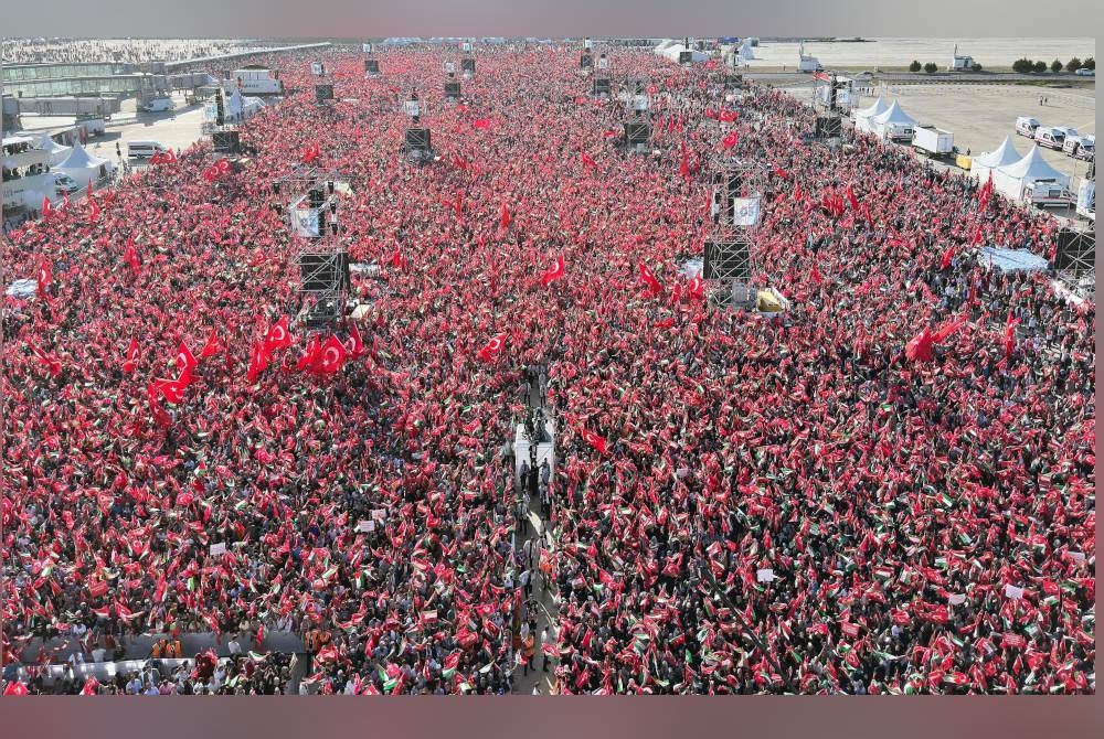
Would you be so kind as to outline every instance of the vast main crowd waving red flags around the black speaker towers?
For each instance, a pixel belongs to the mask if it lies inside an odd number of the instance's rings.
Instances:
[[[448,104],[456,56],[330,53],[322,105],[315,56],[262,58],[300,92],[242,127],[242,171],[200,143],[4,242],[40,280],[3,326],[6,664],[75,630],[291,631],[323,694],[1095,692],[1095,306],[975,259],[1051,257],[1052,218],[809,142],[807,106],[712,64],[611,53],[648,82],[643,156],[577,49],[480,49]],[[680,274],[722,157],[758,168],[784,315]],[[336,370],[282,323],[304,159],[380,267]],[[502,449],[533,365],[546,504]]]

